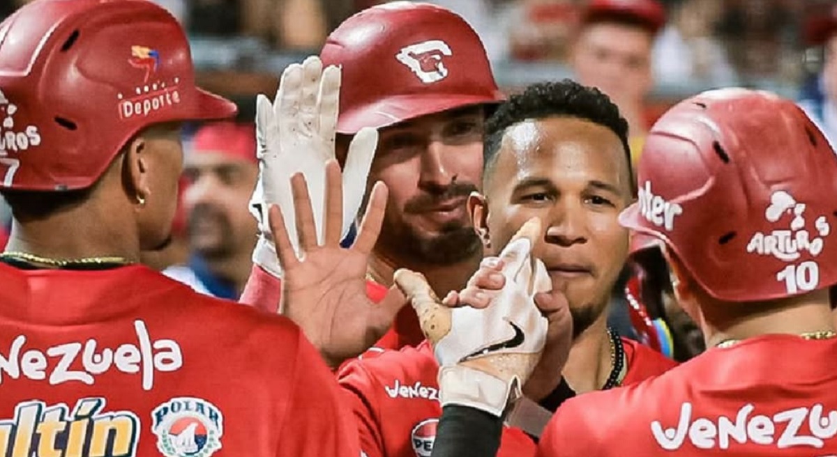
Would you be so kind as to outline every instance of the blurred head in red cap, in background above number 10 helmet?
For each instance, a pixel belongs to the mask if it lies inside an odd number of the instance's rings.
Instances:
[[[591,0],[573,44],[578,82],[608,94],[628,119],[634,163],[655,120],[645,102],[654,87],[651,48],[664,24],[665,11],[656,0]]]

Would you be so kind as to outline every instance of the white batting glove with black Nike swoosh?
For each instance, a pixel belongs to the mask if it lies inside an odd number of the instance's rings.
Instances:
[[[547,338],[547,318],[534,302],[537,292],[552,288],[546,267],[531,256],[540,234],[540,221],[529,221],[502,251],[506,285],[483,309],[445,307],[424,276],[395,273],[441,365],[442,406],[460,404],[500,417],[521,396]]]

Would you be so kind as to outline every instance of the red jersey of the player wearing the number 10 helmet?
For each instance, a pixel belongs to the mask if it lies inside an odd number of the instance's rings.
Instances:
[[[563,404],[542,457],[837,454],[837,339],[766,335]]]

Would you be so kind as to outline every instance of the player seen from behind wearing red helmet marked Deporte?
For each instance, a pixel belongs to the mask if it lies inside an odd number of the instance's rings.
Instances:
[[[0,24],[0,454],[357,457],[333,375],[285,317],[141,266],[180,123],[224,119],[145,0],[35,0]],[[222,450],[223,449],[223,450]]]

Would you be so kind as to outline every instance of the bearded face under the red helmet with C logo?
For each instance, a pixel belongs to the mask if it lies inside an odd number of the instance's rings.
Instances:
[[[450,265],[480,250],[465,201],[482,177],[484,122],[477,106],[381,129],[368,179],[389,189],[377,250],[411,265]]]

